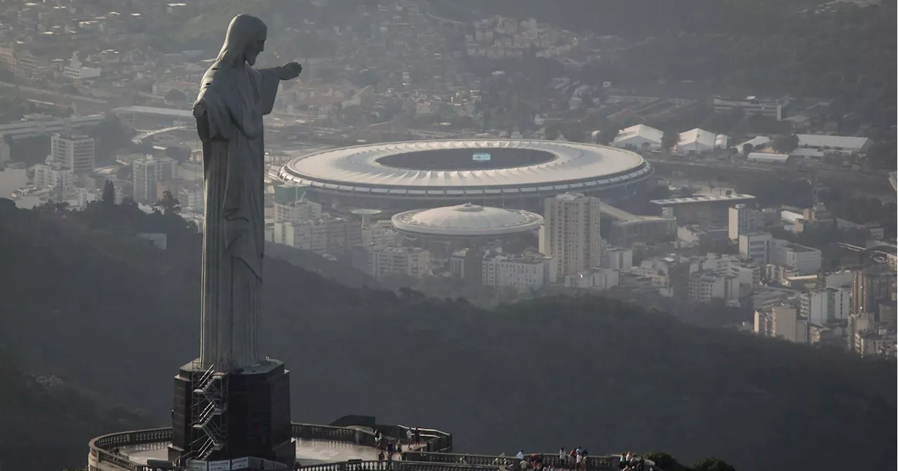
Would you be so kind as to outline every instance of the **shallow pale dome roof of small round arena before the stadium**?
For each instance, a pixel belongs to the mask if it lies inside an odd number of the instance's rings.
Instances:
[[[506,236],[542,226],[538,214],[466,203],[435,209],[414,209],[392,217],[397,229],[427,236]]]

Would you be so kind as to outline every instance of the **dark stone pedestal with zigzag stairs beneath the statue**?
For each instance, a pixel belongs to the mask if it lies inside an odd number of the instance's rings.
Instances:
[[[239,372],[203,369],[198,360],[174,378],[169,459],[213,462],[260,458],[293,469],[290,372],[265,360]],[[236,469],[236,468],[234,468]]]

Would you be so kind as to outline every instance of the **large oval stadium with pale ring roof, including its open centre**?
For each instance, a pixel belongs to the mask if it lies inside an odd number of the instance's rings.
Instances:
[[[463,139],[340,147],[301,156],[279,177],[321,203],[419,209],[462,203],[539,208],[577,191],[616,201],[654,185],[634,152],[577,142]]]

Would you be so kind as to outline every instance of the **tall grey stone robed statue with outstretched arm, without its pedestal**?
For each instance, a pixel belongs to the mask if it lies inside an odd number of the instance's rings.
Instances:
[[[253,68],[268,27],[240,14],[203,76],[193,116],[203,142],[206,221],[203,226],[203,368],[236,372],[260,363],[258,316],[265,241],[265,149],[262,116],[275,104],[281,80],[303,67]]]

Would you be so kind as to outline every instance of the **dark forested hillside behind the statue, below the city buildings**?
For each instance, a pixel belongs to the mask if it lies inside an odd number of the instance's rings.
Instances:
[[[199,246],[178,219],[0,208],[0,342],[31,373],[166,424],[172,375],[198,351]],[[147,229],[171,231],[171,249],[133,236]],[[452,431],[472,453],[663,449],[740,471],[893,459],[892,364],[603,298],[487,311],[265,263],[264,350],[292,371],[296,421],[371,413]]]

